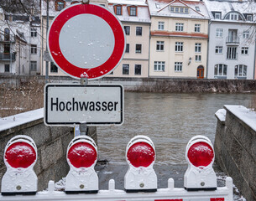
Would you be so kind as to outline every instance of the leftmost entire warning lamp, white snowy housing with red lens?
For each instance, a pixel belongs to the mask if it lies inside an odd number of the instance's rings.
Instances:
[[[31,137],[18,135],[5,147],[3,161],[7,172],[3,175],[1,193],[35,194],[38,178],[34,173],[37,148]]]

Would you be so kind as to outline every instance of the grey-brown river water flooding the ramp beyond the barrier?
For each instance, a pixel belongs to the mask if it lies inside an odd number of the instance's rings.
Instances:
[[[136,135],[154,142],[156,165],[185,163],[191,137],[205,135],[214,142],[217,119],[224,105],[250,106],[256,94],[124,93],[122,126],[97,127],[99,160],[125,164],[125,149]]]

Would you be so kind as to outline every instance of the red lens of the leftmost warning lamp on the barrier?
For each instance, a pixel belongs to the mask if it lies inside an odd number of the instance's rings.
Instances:
[[[8,147],[4,157],[13,168],[28,168],[36,160],[36,152],[26,142],[15,142]]]

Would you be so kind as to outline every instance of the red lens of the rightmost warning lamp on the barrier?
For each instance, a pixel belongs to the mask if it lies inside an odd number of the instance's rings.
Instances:
[[[196,142],[187,152],[190,162],[196,167],[208,166],[214,157],[212,147],[206,142]]]

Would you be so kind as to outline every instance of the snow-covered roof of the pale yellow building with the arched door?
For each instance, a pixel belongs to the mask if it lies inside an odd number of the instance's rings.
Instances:
[[[172,18],[201,18],[208,19],[206,5],[202,1],[185,0],[148,0],[149,12],[152,16]],[[170,8],[189,8],[188,13],[171,12]]]

